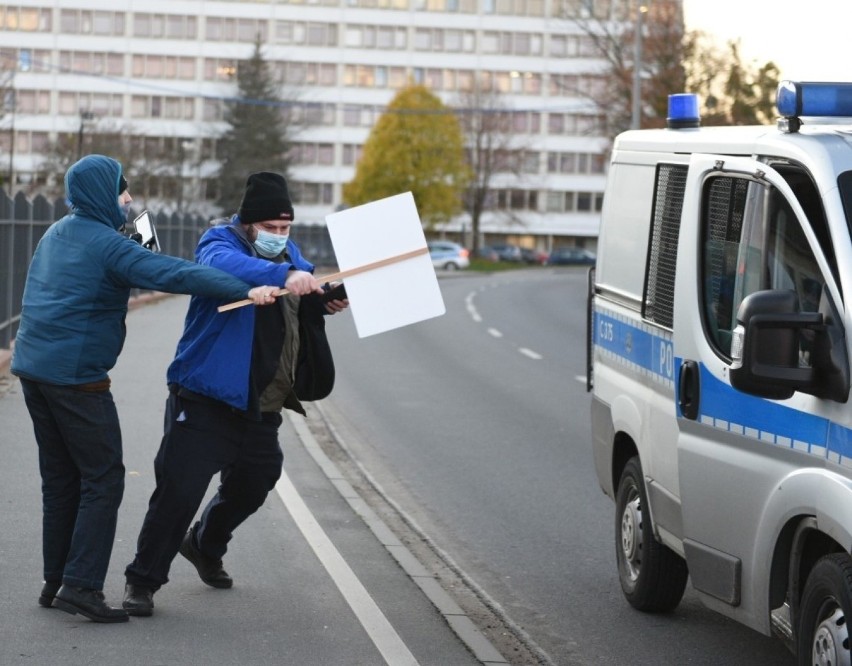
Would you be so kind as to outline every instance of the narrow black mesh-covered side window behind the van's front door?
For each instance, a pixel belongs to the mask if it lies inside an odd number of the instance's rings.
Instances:
[[[686,165],[660,164],[654,190],[654,218],[648,246],[644,316],[661,326],[672,327],[677,239],[686,189]]]

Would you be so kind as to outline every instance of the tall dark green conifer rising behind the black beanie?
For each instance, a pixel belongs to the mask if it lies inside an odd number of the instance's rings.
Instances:
[[[221,167],[216,203],[225,213],[236,211],[249,174],[274,171],[290,180],[289,114],[279,95],[280,86],[263,58],[259,39],[251,58],[237,67],[237,89],[237,97],[226,102],[229,127],[217,145]]]

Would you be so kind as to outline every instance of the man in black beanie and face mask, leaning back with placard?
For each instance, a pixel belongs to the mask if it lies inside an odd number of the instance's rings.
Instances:
[[[220,301],[190,301],[167,372],[166,428],[154,460],[157,487],[136,556],[125,570],[123,605],[130,615],[153,613],[154,593],[168,581],[178,552],[207,585],[233,585],[222,557],[233,531],[260,508],[281,476],[281,410],[304,414],[301,400],[316,397],[295,388],[300,317],[308,309],[334,314],[348,301],[320,298],[324,291],[313,264],[289,239],[293,217],[284,177],[253,173],[237,213],[208,229],[196,248],[200,264],[290,293],[277,299],[278,307],[227,313],[217,311]],[[190,528],[217,473],[218,492]]]

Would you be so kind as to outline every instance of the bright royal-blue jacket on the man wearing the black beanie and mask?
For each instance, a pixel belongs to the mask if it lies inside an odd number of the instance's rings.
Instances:
[[[228,225],[207,230],[195,250],[199,264],[221,268],[250,285],[284,286],[291,269],[313,273],[298,246],[287,242],[290,263],[257,257],[234,216]],[[219,301],[193,297],[186,313],[183,336],[167,373],[169,383],[221,400],[245,410],[249,399],[254,308],[220,313]]]

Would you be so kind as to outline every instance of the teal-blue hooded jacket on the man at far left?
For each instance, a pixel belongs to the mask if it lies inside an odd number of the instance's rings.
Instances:
[[[121,165],[89,155],[65,175],[71,212],[39,241],[24,287],[12,372],[48,384],[106,379],[124,345],[133,287],[204,294],[222,302],[249,285],[191,261],[154,254],[118,230]]]

